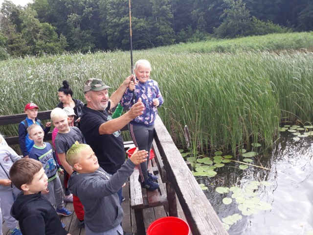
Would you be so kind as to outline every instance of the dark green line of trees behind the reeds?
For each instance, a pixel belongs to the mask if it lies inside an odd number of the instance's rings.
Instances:
[[[129,50],[128,0],[34,0],[0,8],[0,58]],[[133,48],[313,30],[313,0],[132,0]]]

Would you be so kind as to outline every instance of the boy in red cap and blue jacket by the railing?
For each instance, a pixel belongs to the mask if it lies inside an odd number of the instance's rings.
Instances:
[[[41,121],[37,118],[39,107],[34,103],[28,103],[25,106],[25,114],[27,115],[25,120],[22,120],[19,125],[19,141],[20,148],[24,158],[28,158],[29,152],[34,146],[34,141],[28,138],[27,128],[28,126],[36,123],[40,125],[45,135],[50,131],[51,122],[46,122],[45,127]]]

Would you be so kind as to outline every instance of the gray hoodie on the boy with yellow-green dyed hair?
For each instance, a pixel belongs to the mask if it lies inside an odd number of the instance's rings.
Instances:
[[[127,160],[112,176],[101,167],[93,173],[74,171],[70,176],[68,188],[82,202],[85,223],[93,232],[105,232],[122,222],[123,209],[117,191],[131,176],[134,166]]]

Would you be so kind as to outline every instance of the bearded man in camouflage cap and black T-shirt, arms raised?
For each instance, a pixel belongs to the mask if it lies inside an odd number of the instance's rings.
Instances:
[[[109,110],[118,105],[127,88],[132,84],[133,75],[127,77],[122,85],[110,96],[110,88],[102,80],[90,78],[84,85],[87,105],[83,108],[80,120],[81,131],[86,142],[98,158],[100,166],[114,174],[125,162],[124,143],[120,129],[145,109],[141,99],[119,118],[112,119]],[[122,194],[120,191],[120,200]]]

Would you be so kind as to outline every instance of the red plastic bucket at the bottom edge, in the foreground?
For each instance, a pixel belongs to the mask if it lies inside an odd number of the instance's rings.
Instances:
[[[150,224],[147,235],[190,235],[190,228],[184,220],[168,216]]]

